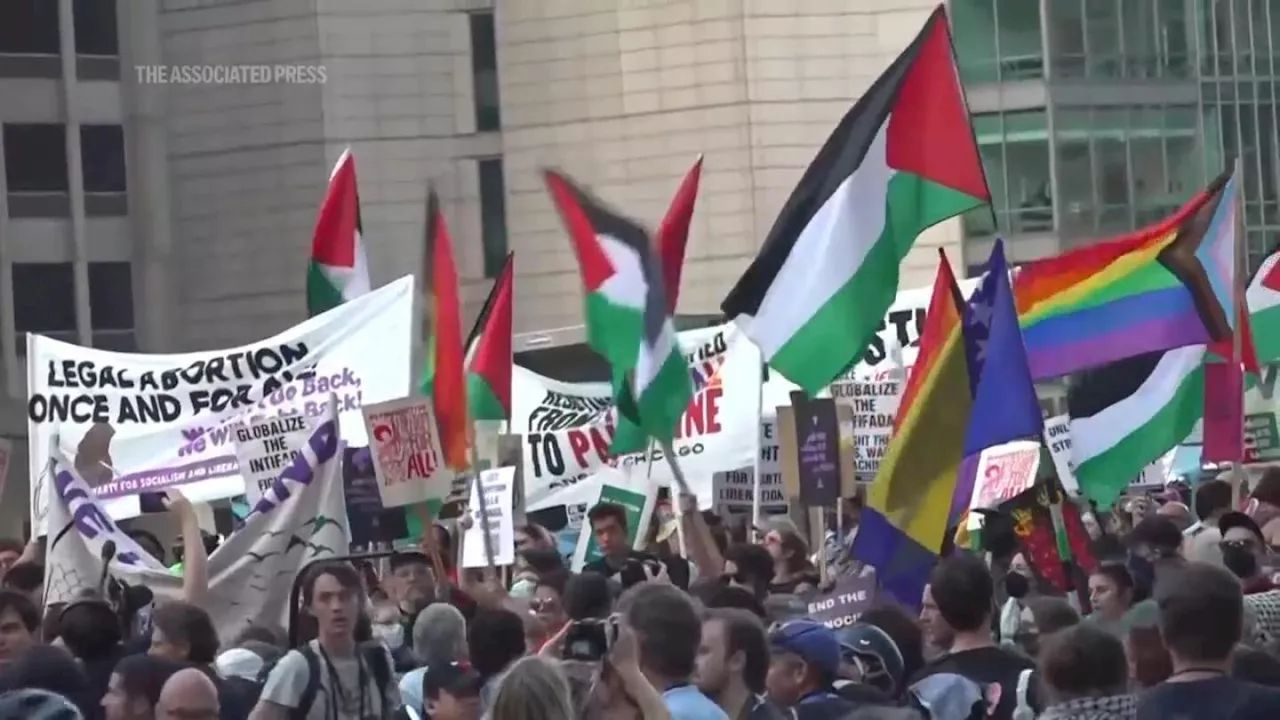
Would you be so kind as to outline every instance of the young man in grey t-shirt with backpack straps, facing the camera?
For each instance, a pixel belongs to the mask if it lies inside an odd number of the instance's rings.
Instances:
[[[302,578],[302,610],[316,638],[289,651],[271,669],[253,720],[364,720],[399,707],[392,659],[381,643],[357,642],[364,615],[360,571],[321,561]]]

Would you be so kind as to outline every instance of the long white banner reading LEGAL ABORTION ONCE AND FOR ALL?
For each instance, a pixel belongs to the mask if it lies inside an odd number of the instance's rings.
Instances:
[[[56,442],[116,519],[138,493],[178,486],[195,502],[244,492],[234,428],[317,418],[335,393],[344,441],[367,443],[360,407],[411,387],[413,278],[406,277],[275,337],[229,350],[109,352],[27,336],[32,527],[44,532]]]

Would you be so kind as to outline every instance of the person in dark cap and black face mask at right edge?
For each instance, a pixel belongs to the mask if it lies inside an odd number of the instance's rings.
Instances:
[[[1270,548],[1262,528],[1244,512],[1226,512],[1219,518],[1217,528],[1222,533],[1222,565],[1240,579],[1240,589],[1244,591],[1244,612],[1252,623],[1252,639],[1266,643],[1280,638],[1280,589],[1267,573]]]

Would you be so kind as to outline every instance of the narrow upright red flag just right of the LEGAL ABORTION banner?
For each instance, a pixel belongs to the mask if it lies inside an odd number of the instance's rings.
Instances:
[[[426,373],[421,391],[435,407],[444,464],[462,471],[470,465],[471,421],[467,418],[467,384],[463,380],[462,304],[458,301],[458,270],[453,263],[453,240],[444,223],[435,191],[426,200]],[[509,341],[508,341],[509,342]]]

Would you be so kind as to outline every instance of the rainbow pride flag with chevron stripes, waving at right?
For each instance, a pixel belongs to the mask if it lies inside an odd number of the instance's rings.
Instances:
[[[1024,265],[1014,292],[1032,375],[1230,337],[1238,187],[1222,176],[1161,223]]]

